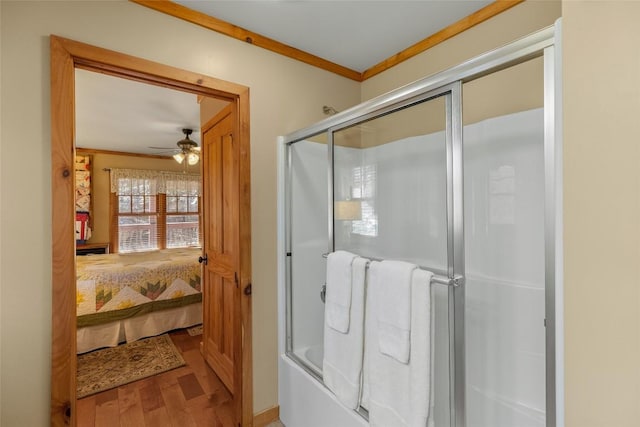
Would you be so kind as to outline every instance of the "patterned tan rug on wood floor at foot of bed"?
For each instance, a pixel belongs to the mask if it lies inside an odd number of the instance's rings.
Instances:
[[[77,397],[90,396],[186,365],[169,335],[78,356]]]

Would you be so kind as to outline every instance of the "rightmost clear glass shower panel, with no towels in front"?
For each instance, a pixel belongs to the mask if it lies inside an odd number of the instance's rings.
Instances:
[[[537,58],[463,86],[467,427],[546,425],[543,84]]]

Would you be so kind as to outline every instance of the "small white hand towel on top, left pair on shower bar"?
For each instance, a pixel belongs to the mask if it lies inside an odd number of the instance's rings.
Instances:
[[[351,309],[352,274],[351,264],[355,254],[336,251],[327,257],[327,288],[324,306],[324,321],[338,332],[349,332]]]

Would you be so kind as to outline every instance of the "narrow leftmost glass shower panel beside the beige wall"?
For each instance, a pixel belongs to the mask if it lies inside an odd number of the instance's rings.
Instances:
[[[327,252],[328,178],[326,134],[306,138],[288,149],[290,275],[287,348],[290,356],[322,376]]]

